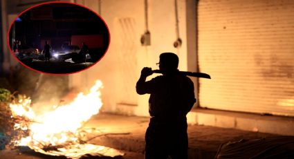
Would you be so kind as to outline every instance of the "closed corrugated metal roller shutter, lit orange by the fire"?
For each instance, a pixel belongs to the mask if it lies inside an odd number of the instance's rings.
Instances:
[[[294,115],[294,1],[200,0],[199,104]]]

